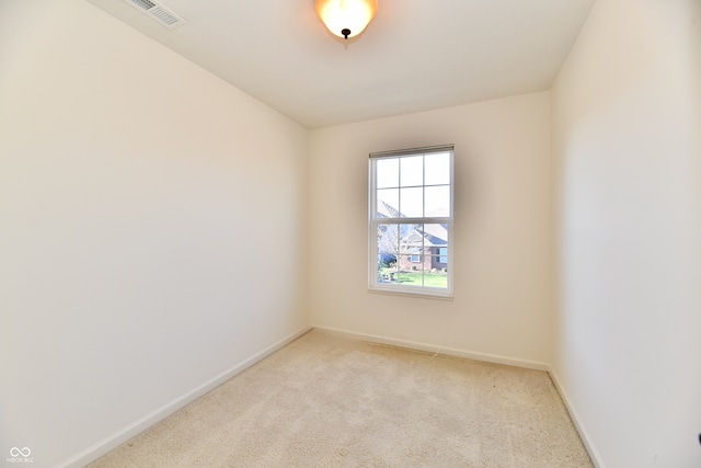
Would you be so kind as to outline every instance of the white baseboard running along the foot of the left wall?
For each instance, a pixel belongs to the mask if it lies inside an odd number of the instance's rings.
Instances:
[[[311,327],[304,327],[304,328],[302,328],[302,329],[289,334],[288,336],[284,338],[283,340],[278,341],[277,343],[274,343],[273,345],[271,345],[271,346],[266,347],[265,350],[261,351],[260,353],[256,353],[253,356],[249,357],[248,359],[245,359],[245,361],[237,364],[235,366],[225,370],[223,373],[221,373],[220,375],[216,376],[211,380],[200,385],[199,387],[193,389],[192,391],[188,391],[187,393],[174,399],[173,401],[162,406],[161,408],[157,409],[156,411],[152,411],[151,413],[149,413],[149,414],[145,415],[143,418],[137,420],[136,422],[134,422],[133,424],[128,425],[124,430],[118,431],[117,433],[115,433],[115,434],[113,434],[113,435],[111,435],[111,436],[97,442],[96,444],[88,447],[87,449],[84,449],[83,452],[79,453],[78,455],[76,455],[76,456],[69,458],[68,460],[61,463],[60,465],[58,465],[58,468],[84,467],[85,465],[90,464],[91,461],[96,460],[101,456],[105,455],[107,452],[113,450],[114,448],[116,448],[119,445],[124,444],[125,442],[127,442],[131,437],[134,437],[137,434],[143,432],[148,427],[150,427],[153,424],[164,420],[165,418],[168,418],[169,415],[173,414],[175,411],[180,410],[181,408],[185,407],[186,404],[195,401],[197,398],[202,397],[203,395],[214,390],[215,388],[217,388],[218,386],[220,386],[225,381],[229,380],[231,377],[233,377],[237,374],[245,370],[246,368],[251,367],[252,365],[254,365],[258,361],[269,356],[271,354],[273,354],[277,350],[279,350],[283,346],[285,346],[286,344],[295,341],[296,339],[298,339],[302,334],[307,333],[309,330],[311,330]]]

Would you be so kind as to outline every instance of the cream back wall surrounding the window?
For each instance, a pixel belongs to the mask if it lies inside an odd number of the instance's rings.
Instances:
[[[368,293],[368,153],[456,145],[455,299]],[[310,133],[314,326],[549,363],[548,92]]]

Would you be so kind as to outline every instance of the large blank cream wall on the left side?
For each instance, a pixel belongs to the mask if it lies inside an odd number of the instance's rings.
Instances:
[[[0,459],[80,466],[306,327],[308,135],[81,0],[0,64]]]

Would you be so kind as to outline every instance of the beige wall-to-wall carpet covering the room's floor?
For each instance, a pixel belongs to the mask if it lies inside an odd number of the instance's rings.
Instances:
[[[90,466],[593,467],[547,373],[320,330]]]

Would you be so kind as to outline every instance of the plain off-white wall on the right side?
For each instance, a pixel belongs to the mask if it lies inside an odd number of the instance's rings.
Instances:
[[[605,0],[553,87],[554,372],[601,466],[701,466],[701,2]]]

